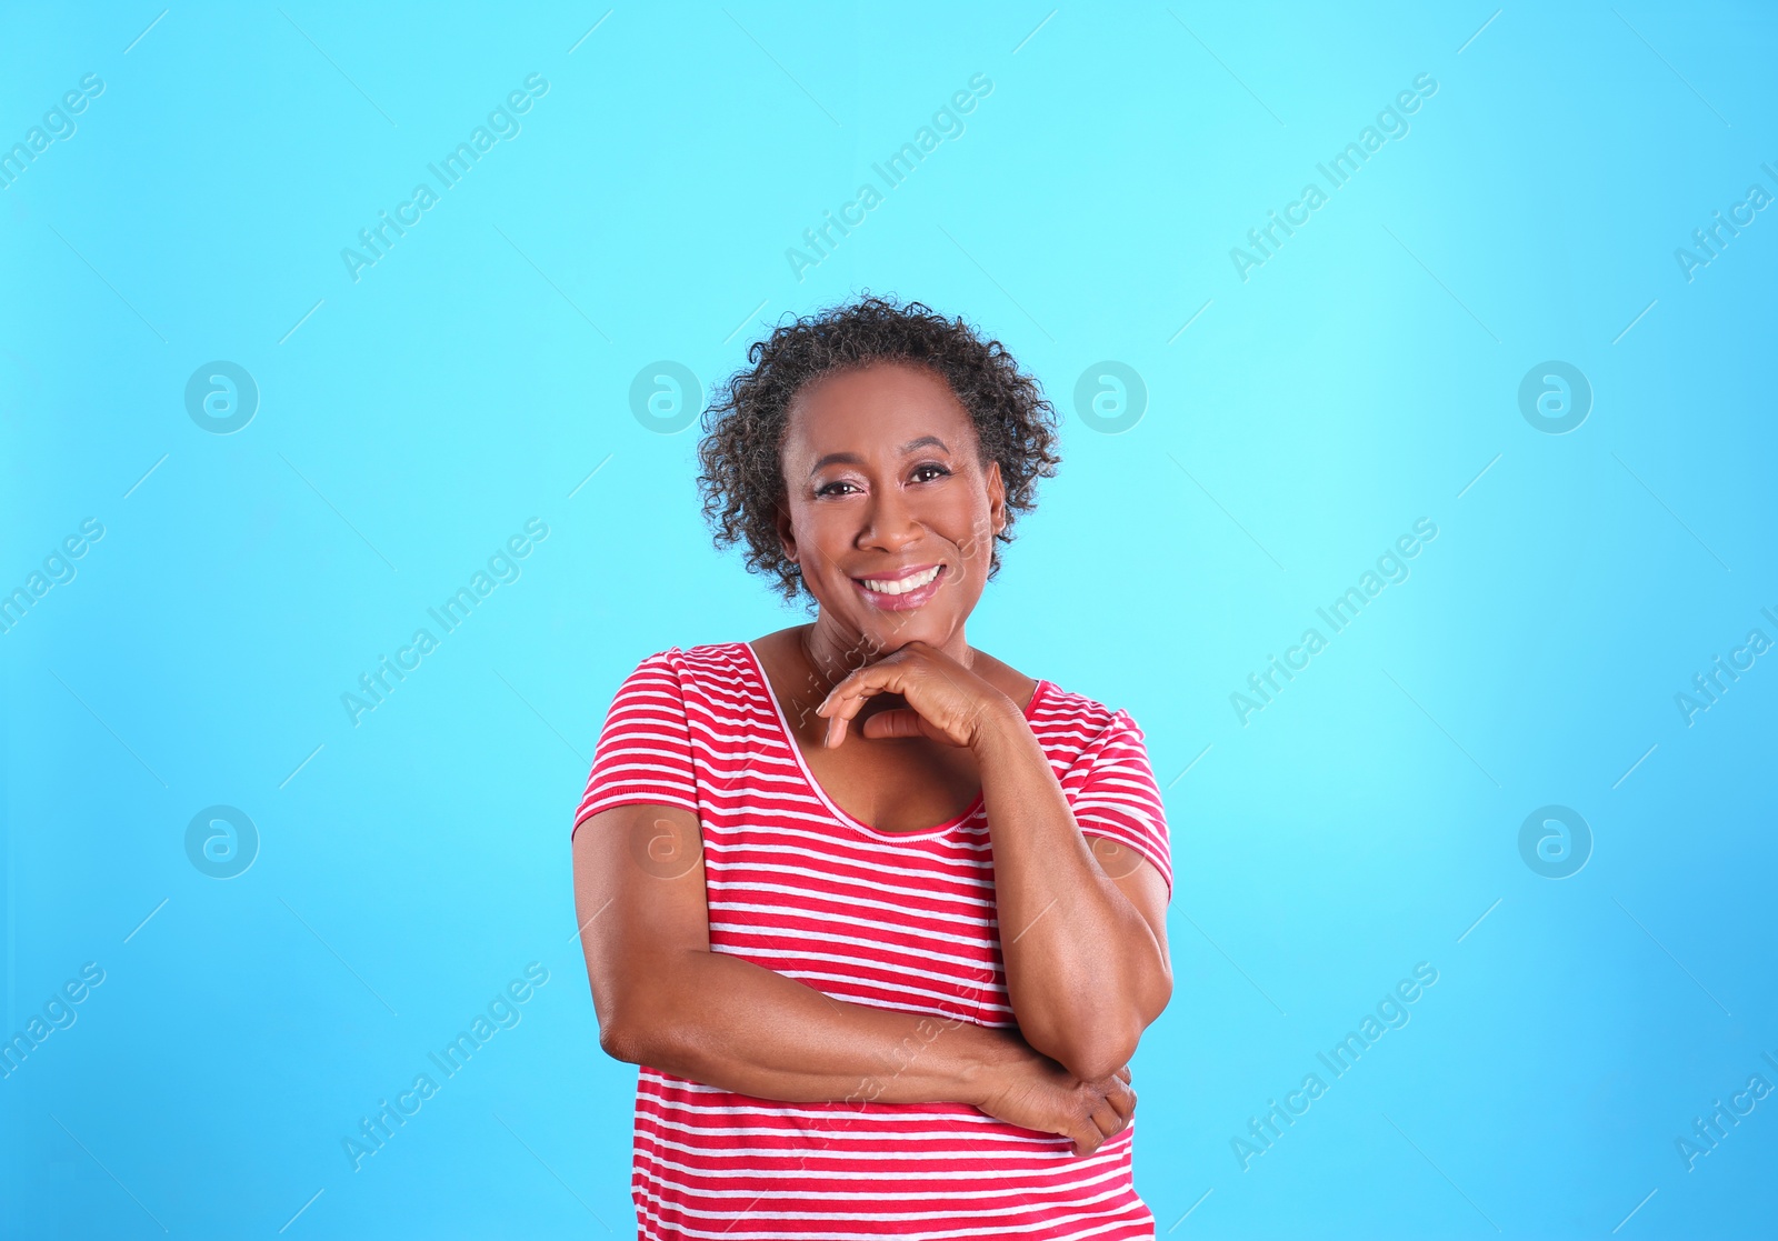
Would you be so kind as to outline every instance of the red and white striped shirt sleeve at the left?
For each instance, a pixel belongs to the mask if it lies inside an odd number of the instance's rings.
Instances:
[[[676,805],[697,814],[692,725],[679,681],[683,653],[642,660],[612,699],[574,827],[613,805]],[[573,832],[569,834],[573,836]]]

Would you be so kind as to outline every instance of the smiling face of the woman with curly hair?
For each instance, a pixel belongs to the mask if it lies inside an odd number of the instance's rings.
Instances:
[[[969,411],[925,366],[875,363],[797,393],[779,537],[827,624],[885,653],[962,633],[1006,517],[999,464],[976,453]]]

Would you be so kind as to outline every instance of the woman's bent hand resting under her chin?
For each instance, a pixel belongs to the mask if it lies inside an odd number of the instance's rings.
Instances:
[[[900,693],[907,708],[878,711],[864,720],[868,738],[928,736],[933,741],[974,747],[994,727],[997,713],[1019,706],[957,660],[926,642],[868,663],[839,681],[814,709],[827,718],[823,747],[846,740],[846,724],[878,693]]]

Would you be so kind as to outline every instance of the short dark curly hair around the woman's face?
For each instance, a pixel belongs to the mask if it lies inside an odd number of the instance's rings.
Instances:
[[[873,363],[937,372],[969,411],[981,462],[999,462],[1006,524],[997,542],[1012,542],[1015,516],[1037,507],[1037,480],[1054,476],[1061,464],[1056,411],[1037,379],[997,340],[983,340],[960,316],[948,320],[923,302],[866,292],[781,324],[749,347],[747,361],[750,366],[718,386],[704,409],[697,485],[717,548],[745,544],[749,572],[775,576],[786,603],[798,592],[807,596],[807,585],[777,535],[779,508],[789,501],[781,453],[791,400],[814,379]],[[989,578],[999,564],[999,548],[990,544]]]

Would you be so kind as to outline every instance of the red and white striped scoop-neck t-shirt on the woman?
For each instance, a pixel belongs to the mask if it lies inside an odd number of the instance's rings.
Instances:
[[[1024,715],[1081,830],[1140,852],[1172,893],[1136,722],[1042,679]],[[670,647],[622,683],[574,825],[637,802],[697,814],[711,951],[935,1028],[1015,1024],[981,798],[923,832],[852,818],[809,773],[749,644]],[[1152,1237],[1134,1133],[1076,1156],[969,1104],[779,1102],[644,1065],[631,1195],[651,1239]]]

